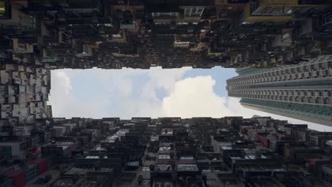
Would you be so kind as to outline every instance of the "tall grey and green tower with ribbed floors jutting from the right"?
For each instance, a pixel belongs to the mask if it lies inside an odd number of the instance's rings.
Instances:
[[[228,96],[246,108],[332,125],[332,55],[297,65],[238,69],[227,80]]]

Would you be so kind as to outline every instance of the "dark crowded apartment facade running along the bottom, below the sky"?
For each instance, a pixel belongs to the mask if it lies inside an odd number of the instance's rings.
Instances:
[[[46,122],[45,132],[73,127],[33,147],[18,148],[13,136],[10,142],[1,137],[1,149],[11,152],[0,149],[0,156],[9,156],[0,157],[0,186],[286,187],[332,182],[332,132],[286,120],[255,115]]]

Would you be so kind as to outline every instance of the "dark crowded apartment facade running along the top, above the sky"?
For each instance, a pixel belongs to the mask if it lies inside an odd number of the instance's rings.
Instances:
[[[0,63],[275,67],[331,54],[326,1],[0,1]]]

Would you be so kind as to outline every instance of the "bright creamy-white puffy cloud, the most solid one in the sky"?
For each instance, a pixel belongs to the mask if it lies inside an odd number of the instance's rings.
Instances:
[[[175,83],[170,96],[162,100],[162,113],[167,116],[219,117],[223,108],[223,98],[214,93],[216,81],[212,77],[187,78]]]

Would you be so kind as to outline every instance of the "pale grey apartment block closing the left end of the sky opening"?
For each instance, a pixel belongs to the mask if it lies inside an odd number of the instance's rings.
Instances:
[[[50,79],[50,69],[0,66],[0,118],[26,124],[52,117],[47,105]]]

